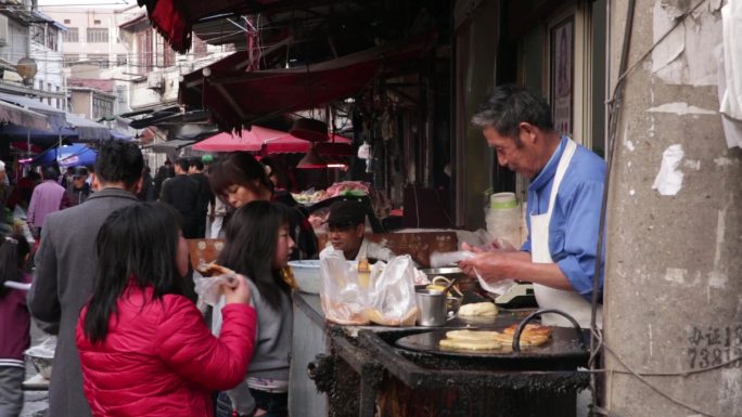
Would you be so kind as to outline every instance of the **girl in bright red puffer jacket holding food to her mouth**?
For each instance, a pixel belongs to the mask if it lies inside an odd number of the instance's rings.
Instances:
[[[212,391],[244,377],[255,310],[243,276],[225,286],[214,337],[183,296],[188,246],[159,203],[112,213],[97,238],[98,279],[77,324],[85,395],[95,417],[213,416]]]

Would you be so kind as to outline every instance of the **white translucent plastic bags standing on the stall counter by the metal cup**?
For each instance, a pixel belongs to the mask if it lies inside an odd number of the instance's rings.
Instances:
[[[415,268],[409,256],[394,257],[388,264],[371,266],[368,282],[359,279],[357,266],[342,251],[320,256],[320,298],[324,316],[334,323],[385,326],[414,324]],[[367,285],[363,285],[368,283]]]

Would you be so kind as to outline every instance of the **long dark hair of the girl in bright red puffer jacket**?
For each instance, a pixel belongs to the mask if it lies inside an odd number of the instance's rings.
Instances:
[[[178,212],[162,203],[142,203],[114,211],[95,238],[98,272],[85,316],[85,335],[102,342],[108,318],[129,283],[154,287],[153,300],[184,294],[178,273]]]

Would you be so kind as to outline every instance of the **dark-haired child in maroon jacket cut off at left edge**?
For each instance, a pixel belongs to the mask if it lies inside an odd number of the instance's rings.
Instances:
[[[23,268],[30,245],[23,235],[0,237],[0,416],[15,417],[23,408],[23,351],[30,343]]]

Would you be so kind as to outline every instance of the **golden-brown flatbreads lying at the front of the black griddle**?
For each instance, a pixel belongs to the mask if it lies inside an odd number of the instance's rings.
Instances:
[[[494,330],[451,330],[446,338],[440,339],[439,346],[452,350],[499,350],[513,344],[513,336],[517,325],[512,325],[500,331]],[[549,341],[551,327],[526,325],[521,334],[521,346],[537,347]]]

